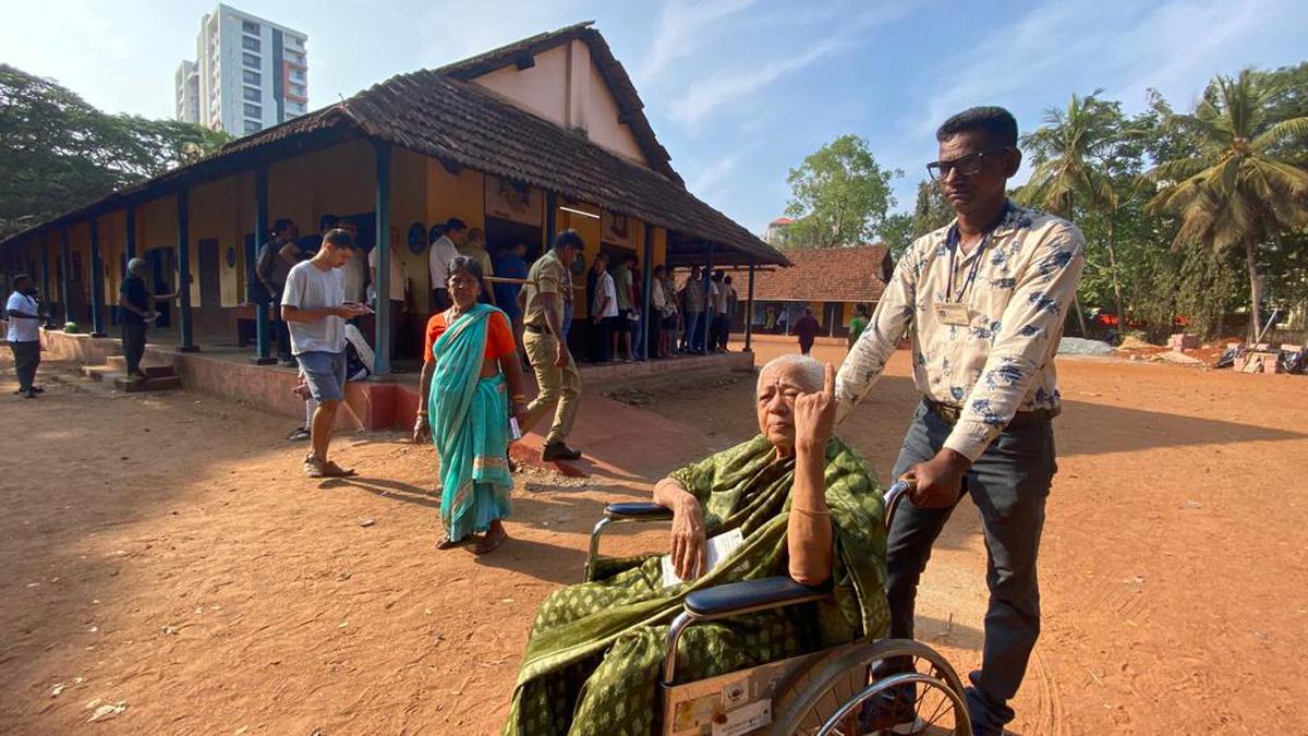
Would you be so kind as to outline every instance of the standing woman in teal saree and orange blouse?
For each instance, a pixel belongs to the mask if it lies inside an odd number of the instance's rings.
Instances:
[[[509,416],[511,407],[521,426],[527,398],[508,316],[477,303],[481,265],[451,259],[446,284],[454,305],[428,321],[413,441],[430,437],[441,457],[445,536],[437,549],[484,533],[476,546],[484,554],[508,538],[501,520],[511,508]]]

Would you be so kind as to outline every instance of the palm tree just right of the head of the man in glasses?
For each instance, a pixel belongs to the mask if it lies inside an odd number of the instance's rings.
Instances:
[[[1122,310],[1122,287],[1117,280],[1117,251],[1113,244],[1113,217],[1117,191],[1109,178],[1104,158],[1112,155],[1121,139],[1121,111],[1116,102],[1099,100],[1101,89],[1086,97],[1071,96],[1066,110],[1045,110],[1042,126],[1022,138],[1022,147],[1031,152],[1035,170],[1019,198],[1048,212],[1073,219],[1079,204],[1107,215],[1108,266],[1113,283],[1118,330],[1126,326]],[[1078,306],[1076,313],[1080,314]],[[1082,322],[1084,331],[1084,322]]]

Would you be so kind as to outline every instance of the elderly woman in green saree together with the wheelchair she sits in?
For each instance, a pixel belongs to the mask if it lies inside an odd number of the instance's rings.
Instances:
[[[832,436],[833,382],[832,367],[812,359],[770,361],[756,437],[659,481],[654,503],[606,509],[587,580],[551,593],[536,614],[504,733],[755,733],[786,718],[794,732],[833,712],[797,694],[829,699],[869,684],[872,661],[849,647],[888,629],[886,500],[867,462]],[[662,555],[595,559],[599,532],[624,520],[671,520],[671,571]],[[718,550],[719,536],[738,546]],[[903,677],[925,661],[891,653]],[[938,656],[926,660],[956,685]],[[878,716],[865,701],[845,708],[844,731],[821,732],[879,732],[867,729]]]

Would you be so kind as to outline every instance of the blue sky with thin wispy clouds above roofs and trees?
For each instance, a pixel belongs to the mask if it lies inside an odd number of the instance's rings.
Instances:
[[[173,114],[173,71],[195,56],[191,0],[4,0],[0,62],[109,111]],[[420,67],[594,20],[627,65],[692,191],[753,232],[786,204],[786,173],[853,132],[904,169],[913,203],[934,127],[997,103],[1023,131],[1104,88],[1127,111],[1159,89],[1185,106],[1216,72],[1308,59],[1303,0],[583,1],[239,0],[309,34],[310,106]]]

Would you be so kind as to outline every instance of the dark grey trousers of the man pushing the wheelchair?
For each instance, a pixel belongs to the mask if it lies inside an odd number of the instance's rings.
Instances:
[[[1045,498],[1058,470],[1049,419],[1014,424],[1019,426],[1005,430],[963,481],[963,496],[972,496],[981,512],[990,589],[981,669],[971,676],[968,710],[974,722],[991,729],[1012,720],[1007,701],[1018,693],[1040,635],[1036,553],[1045,524]],[[930,460],[952,428],[925,405],[918,406],[891,477],[899,478],[912,465]],[[892,638],[913,638],[917,583],[931,557],[931,545],[956,506],[918,508],[905,498],[895,512],[886,579]]]

